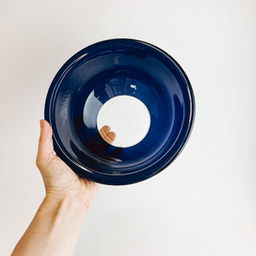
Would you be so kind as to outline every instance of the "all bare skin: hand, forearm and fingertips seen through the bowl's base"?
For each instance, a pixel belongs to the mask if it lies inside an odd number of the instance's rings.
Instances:
[[[72,255],[84,216],[99,189],[98,183],[78,177],[55,155],[49,123],[40,120],[40,127],[36,164],[44,179],[46,195],[12,256]],[[109,135],[107,127],[101,132],[111,143],[115,134]]]

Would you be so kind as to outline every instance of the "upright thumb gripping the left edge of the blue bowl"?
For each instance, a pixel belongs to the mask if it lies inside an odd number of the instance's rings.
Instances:
[[[40,120],[40,127],[41,131],[38,143],[38,156],[36,160],[36,164],[39,169],[47,166],[55,157],[52,141],[52,129],[46,120]]]

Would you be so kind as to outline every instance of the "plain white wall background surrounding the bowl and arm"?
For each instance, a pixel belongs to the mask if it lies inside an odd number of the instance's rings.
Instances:
[[[74,255],[256,255],[256,2],[0,2],[0,255],[44,198],[39,119],[55,73],[89,44],[137,38],[172,55],[195,91],[189,143],[159,175],[102,185]]]

